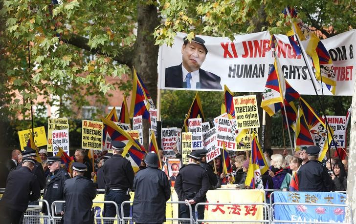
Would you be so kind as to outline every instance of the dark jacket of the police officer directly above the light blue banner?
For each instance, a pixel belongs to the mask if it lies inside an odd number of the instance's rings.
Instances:
[[[299,191],[332,191],[334,182],[328,170],[317,160],[310,160],[298,170]]]

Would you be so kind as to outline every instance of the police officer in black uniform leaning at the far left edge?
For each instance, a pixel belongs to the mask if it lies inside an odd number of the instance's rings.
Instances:
[[[34,159],[25,158],[21,168],[9,173],[5,192],[0,200],[1,223],[20,223],[28,201],[36,201],[40,198],[40,183],[36,175],[31,172],[35,162]]]

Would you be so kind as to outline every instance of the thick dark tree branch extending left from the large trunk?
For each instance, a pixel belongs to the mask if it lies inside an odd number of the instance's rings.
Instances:
[[[89,39],[76,34],[72,34],[68,39],[62,39],[62,41],[74,45],[78,48],[87,50],[93,54],[99,53],[101,55],[107,55],[103,53],[102,48],[100,47],[90,49],[90,46],[88,45]],[[112,59],[114,61],[117,61],[118,63],[126,64],[127,66],[132,67],[134,47],[133,46],[132,47],[112,46],[112,47],[115,47],[118,50],[118,54],[116,56],[111,56]]]

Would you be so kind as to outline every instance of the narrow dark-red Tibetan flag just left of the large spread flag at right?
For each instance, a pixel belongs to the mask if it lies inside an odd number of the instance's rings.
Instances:
[[[295,124],[295,151],[306,150],[309,146],[315,145],[308,124],[304,118],[303,110],[298,108],[298,119]]]

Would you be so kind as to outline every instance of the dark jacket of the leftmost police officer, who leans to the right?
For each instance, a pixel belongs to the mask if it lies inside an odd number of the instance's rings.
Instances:
[[[7,177],[5,192],[0,200],[2,206],[25,212],[28,201],[40,198],[40,183],[27,166],[12,170]]]

